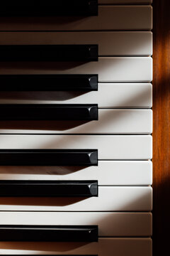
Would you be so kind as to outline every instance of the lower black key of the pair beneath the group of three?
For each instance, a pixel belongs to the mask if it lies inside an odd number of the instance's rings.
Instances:
[[[0,181],[1,197],[98,196],[97,181]]]

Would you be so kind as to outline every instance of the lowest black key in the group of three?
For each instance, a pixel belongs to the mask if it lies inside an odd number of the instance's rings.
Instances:
[[[98,120],[98,105],[6,104],[0,105],[0,120]],[[62,124],[62,122],[60,122]]]

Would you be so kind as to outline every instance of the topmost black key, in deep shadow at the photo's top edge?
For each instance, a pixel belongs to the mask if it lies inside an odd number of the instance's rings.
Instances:
[[[41,0],[38,4],[35,1],[23,2],[12,0],[1,4],[0,16],[25,17],[25,16],[97,16],[97,0]]]

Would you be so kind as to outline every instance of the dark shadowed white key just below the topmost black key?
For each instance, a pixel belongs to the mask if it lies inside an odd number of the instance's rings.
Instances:
[[[1,18],[0,31],[150,31],[152,6],[98,6],[98,16]]]

